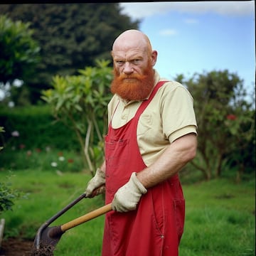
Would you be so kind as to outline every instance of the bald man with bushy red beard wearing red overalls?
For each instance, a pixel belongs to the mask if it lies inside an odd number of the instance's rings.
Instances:
[[[160,78],[157,51],[141,31],[119,35],[112,58],[105,161],[85,190],[112,203],[102,256],[176,256],[185,218],[178,172],[197,147],[193,98]]]

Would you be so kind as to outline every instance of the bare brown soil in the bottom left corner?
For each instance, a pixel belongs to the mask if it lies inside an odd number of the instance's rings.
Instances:
[[[33,241],[9,238],[2,240],[0,256],[31,256]]]

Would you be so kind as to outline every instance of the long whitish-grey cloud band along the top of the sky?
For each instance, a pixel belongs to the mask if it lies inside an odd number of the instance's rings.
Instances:
[[[178,11],[186,14],[215,13],[229,16],[245,16],[255,13],[255,1],[166,1],[120,3],[122,13],[142,19],[156,14]]]

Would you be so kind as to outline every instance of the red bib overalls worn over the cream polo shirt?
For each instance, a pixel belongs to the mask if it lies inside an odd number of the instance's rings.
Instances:
[[[106,204],[132,174],[146,168],[137,144],[137,124],[157,90],[140,105],[134,118],[105,137]],[[148,188],[136,210],[105,216],[102,256],[177,256],[183,233],[185,202],[178,175]]]

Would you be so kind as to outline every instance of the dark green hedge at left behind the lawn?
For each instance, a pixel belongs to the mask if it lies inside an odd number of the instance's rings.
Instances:
[[[0,135],[6,149],[80,150],[73,130],[57,122],[48,105],[2,108],[0,125],[6,131]]]

